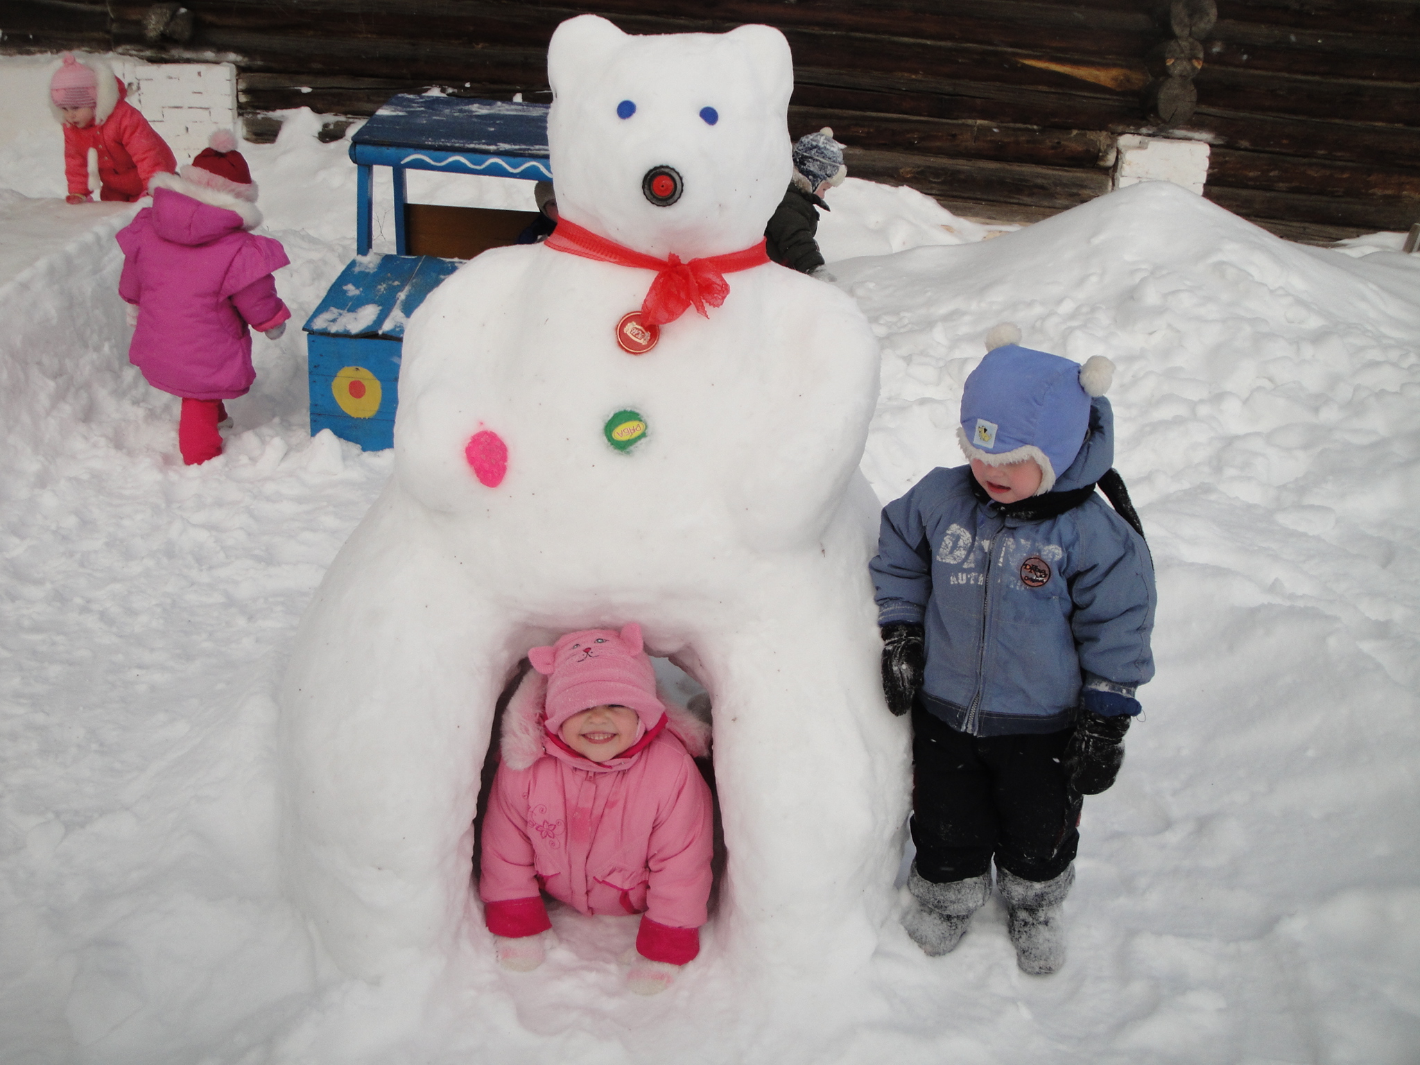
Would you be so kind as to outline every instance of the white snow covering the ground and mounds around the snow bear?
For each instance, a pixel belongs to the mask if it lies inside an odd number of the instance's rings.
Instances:
[[[354,253],[354,168],[317,126],[244,149],[297,321]],[[0,146],[0,187],[62,193],[50,141]],[[1065,970],[1022,976],[991,903],[950,957],[892,927],[866,971],[763,1003],[736,966],[629,1001],[626,923],[565,913],[534,974],[466,951],[342,980],[280,890],[274,692],[389,454],[308,437],[293,329],[257,338],[227,453],[183,467],[178,402],[125,359],[119,214],[44,258],[0,236],[38,260],[0,287],[0,1059],[1420,1061],[1420,257],[1288,244],[1169,186],[994,240],[905,190],[831,203],[883,342],[885,500],[960,462],[990,325],[1119,366],[1159,679],[1085,808]]]

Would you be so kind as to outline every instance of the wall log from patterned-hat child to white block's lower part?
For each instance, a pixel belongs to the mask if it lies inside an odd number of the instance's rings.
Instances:
[[[843,149],[848,172],[858,178],[910,185],[929,196],[1020,203],[1032,207],[1072,207],[1109,192],[1109,175],[984,159],[943,159],[906,152]]]

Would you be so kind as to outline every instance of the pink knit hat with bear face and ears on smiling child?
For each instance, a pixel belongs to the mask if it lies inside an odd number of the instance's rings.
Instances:
[[[569,632],[551,648],[532,648],[528,660],[548,676],[547,730],[554,736],[568,717],[594,706],[628,706],[648,731],[666,713],[656,697],[656,670],[642,650],[636,622],[621,632]]]

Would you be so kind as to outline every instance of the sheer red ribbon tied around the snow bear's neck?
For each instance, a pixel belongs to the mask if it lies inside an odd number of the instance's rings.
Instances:
[[[703,317],[709,318],[707,308],[719,307],[730,294],[730,284],[724,280],[724,274],[748,270],[770,261],[763,240],[744,251],[692,258],[689,263],[682,263],[680,257],[674,254],[669,258],[656,258],[633,251],[615,240],[601,237],[567,219],[558,219],[557,229],[544,243],[555,251],[594,258],[598,263],[655,270],[656,280],[650,283],[650,291],[646,293],[646,298],[640,304],[640,317],[646,325],[673,322],[689,307],[694,307]]]

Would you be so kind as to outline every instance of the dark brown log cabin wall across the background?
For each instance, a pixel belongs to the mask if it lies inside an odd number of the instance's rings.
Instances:
[[[1284,236],[1420,220],[1420,0],[6,0],[0,50],[234,62],[268,112],[369,115],[393,92],[548,99],[552,28],[777,26],[791,132],[824,125],[852,175],[968,216],[1030,220],[1110,187],[1115,138],[1206,139],[1206,195]]]

